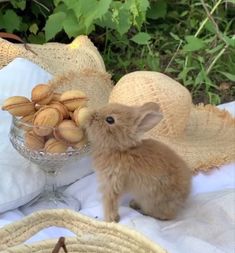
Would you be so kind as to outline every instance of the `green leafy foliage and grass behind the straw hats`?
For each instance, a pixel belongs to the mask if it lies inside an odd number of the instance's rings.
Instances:
[[[10,0],[0,3],[0,30],[30,43],[87,34],[115,81],[161,71],[194,102],[218,104],[235,99],[234,13],[234,0]]]

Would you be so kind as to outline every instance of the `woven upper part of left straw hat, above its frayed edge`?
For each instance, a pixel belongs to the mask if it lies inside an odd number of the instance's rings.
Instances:
[[[6,66],[16,57],[26,58],[40,65],[53,75],[71,70],[93,69],[105,72],[104,61],[97,48],[81,35],[70,44],[46,43],[30,44],[27,50],[23,44],[10,43],[0,38],[0,68]]]

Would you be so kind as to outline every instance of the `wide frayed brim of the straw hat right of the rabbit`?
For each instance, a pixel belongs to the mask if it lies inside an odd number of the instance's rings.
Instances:
[[[193,106],[180,136],[162,136],[156,129],[148,136],[168,145],[195,173],[235,161],[235,118],[212,105]]]

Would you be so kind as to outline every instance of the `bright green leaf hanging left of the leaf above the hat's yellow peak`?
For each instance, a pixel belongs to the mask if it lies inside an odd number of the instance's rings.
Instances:
[[[55,37],[63,29],[63,22],[66,18],[64,12],[57,12],[49,16],[45,25],[46,41]]]

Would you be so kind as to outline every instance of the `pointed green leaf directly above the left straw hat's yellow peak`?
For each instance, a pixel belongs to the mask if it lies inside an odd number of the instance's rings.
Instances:
[[[64,20],[63,28],[69,38],[76,37],[81,34],[81,26],[79,26],[78,20],[72,10],[67,13],[67,17]]]

